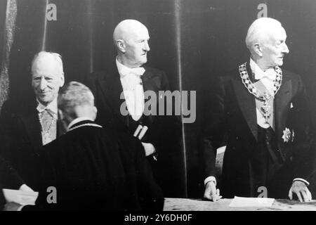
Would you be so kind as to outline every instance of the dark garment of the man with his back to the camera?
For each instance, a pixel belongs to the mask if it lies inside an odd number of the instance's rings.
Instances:
[[[71,128],[87,124],[93,122]],[[136,138],[91,126],[68,131],[39,154],[37,210],[162,210],[162,191],[147,163]],[[57,204],[46,201],[49,186]]]

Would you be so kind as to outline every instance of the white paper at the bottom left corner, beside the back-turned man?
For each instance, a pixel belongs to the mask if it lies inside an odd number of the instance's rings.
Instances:
[[[20,191],[12,189],[2,189],[4,198],[7,203],[19,203],[20,205],[35,205],[35,201],[39,196],[38,192],[34,191]]]

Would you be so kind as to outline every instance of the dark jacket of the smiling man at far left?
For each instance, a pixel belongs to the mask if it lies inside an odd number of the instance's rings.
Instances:
[[[57,135],[61,135],[58,122]],[[0,115],[0,155],[18,171],[29,187],[35,185],[37,171],[34,158],[42,146],[41,124],[35,98],[6,101]]]

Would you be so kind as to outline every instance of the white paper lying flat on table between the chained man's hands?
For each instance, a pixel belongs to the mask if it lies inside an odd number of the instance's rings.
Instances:
[[[242,198],[235,196],[230,203],[230,207],[272,207],[274,201],[274,198]]]

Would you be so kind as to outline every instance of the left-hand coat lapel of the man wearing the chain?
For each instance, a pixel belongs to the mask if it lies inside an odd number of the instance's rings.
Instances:
[[[248,64],[247,64],[248,65]],[[251,71],[247,66],[247,71],[249,77],[251,77]],[[254,138],[258,139],[258,127],[257,127],[257,115],[256,115],[256,101],[252,94],[246,89],[244,84],[242,84],[242,79],[239,77],[239,71],[237,72],[237,78],[232,80],[232,85],[234,86],[235,96],[237,98],[237,103],[242,115],[248,124],[251,134]]]

